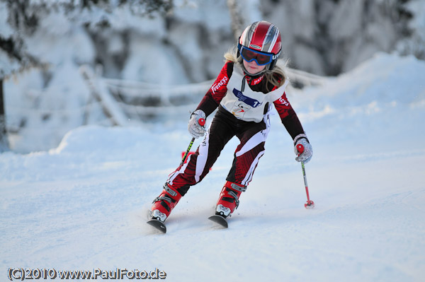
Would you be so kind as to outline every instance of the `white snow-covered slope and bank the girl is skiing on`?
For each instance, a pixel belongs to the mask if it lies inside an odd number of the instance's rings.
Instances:
[[[191,139],[186,120],[174,131],[80,127],[50,151],[2,153],[0,280],[22,267],[159,269],[166,281],[424,281],[424,74],[424,61],[378,54],[288,93],[314,149],[316,208],[304,208],[301,167],[276,114],[225,230],[207,218],[237,140],[183,197],[168,233],[145,223]]]

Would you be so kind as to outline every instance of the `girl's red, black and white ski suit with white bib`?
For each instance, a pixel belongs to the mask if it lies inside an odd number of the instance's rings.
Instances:
[[[203,110],[208,117],[218,107],[210,128],[196,153],[169,175],[169,184],[182,196],[186,194],[191,185],[207,175],[226,143],[237,136],[240,143],[226,180],[246,187],[264,153],[271,102],[293,139],[304,134],[286,98],[286,84],[277,88],[267,83],[264,76],[246,76],[238,64],[227,61],[196,109]]]

